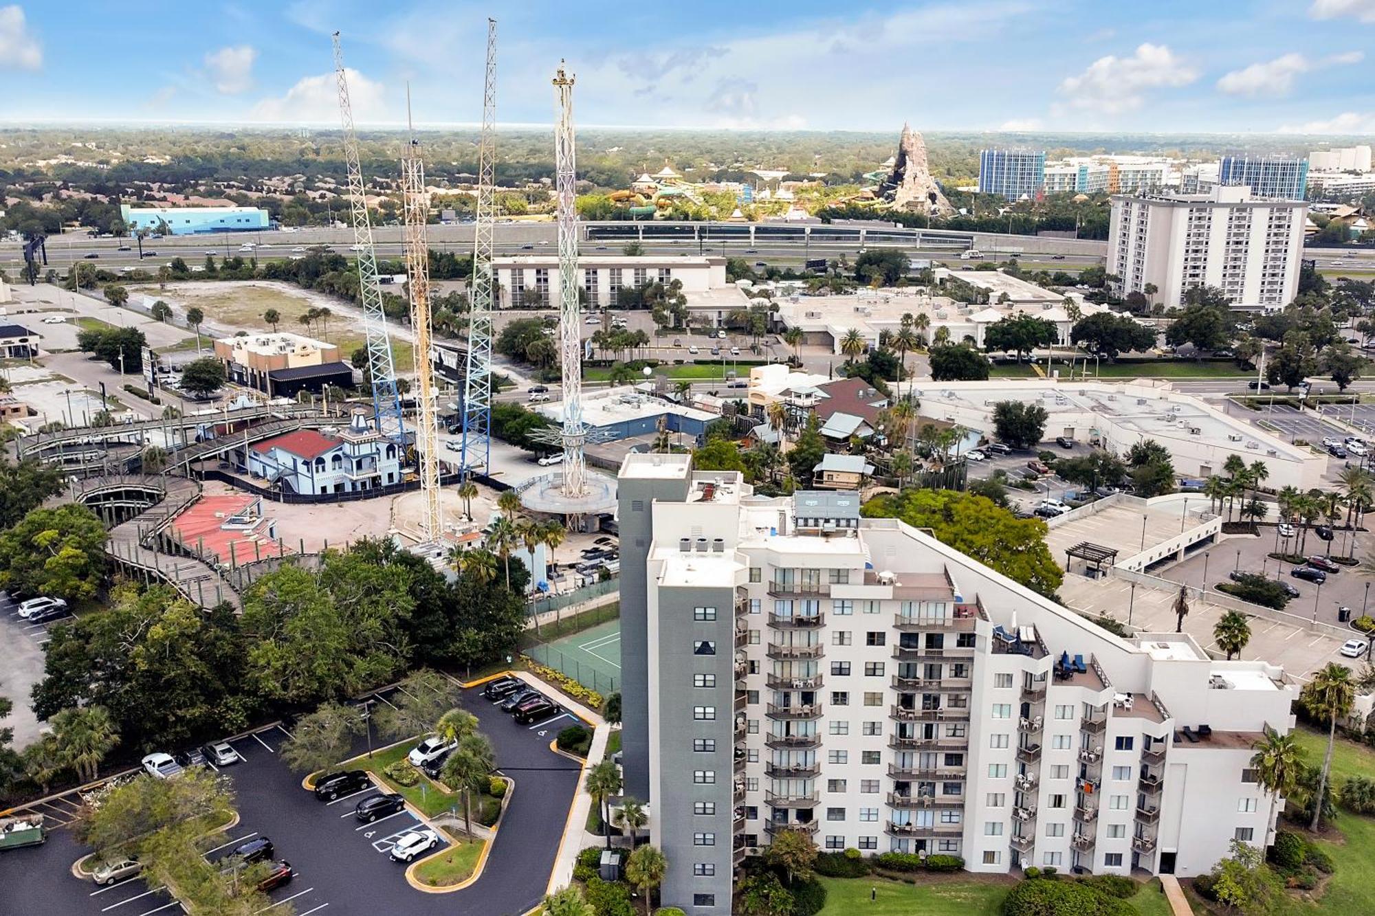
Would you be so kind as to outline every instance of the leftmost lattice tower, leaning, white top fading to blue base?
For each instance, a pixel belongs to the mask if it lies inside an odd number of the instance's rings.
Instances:
[[[382,290],[377,283],[377,254],[373,250],[373,223],[367,216],[367,197],[363,193],[363,168],[358,160],[358,135],[353,132],[353,105],[348,98],[348,78],[344,76],[344,50],[340,33],[334,33],[334,76],[340,92],[340,121],[344,125],[344,158],[348,162],[348,197],[353,217],[353,250],[358,254],[358,290],[363,300],[363,330],[367,334],[367,367],[373,378],[373,407],[377,411],[377,430],[402,441],[406,437],[402,421],[402,399],[396,392],[396,364],[392,341],[382,311]],[[428,356],[426,356],[428,358]]]

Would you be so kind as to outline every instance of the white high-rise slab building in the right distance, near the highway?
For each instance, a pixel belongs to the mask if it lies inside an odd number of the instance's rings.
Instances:
[[[1194,286],[1217,286],[1233,307],[1283,308],[1298,292],[1302,201],[1257,199],[1246,187],[1209,194],[1112,198],[1108,274],[1119,296],[1145,292],[1182,305]]]

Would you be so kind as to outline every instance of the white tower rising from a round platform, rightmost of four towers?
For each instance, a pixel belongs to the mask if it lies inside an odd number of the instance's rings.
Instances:
[[[558,62],[554,74],[558,125],[554,128],[554,186],[558,193],[558,364],[564,385],[564,495],[582,497],[587,487],[583,447],[583,341],[578,304],[578,204],[573,155],[573,77]]]

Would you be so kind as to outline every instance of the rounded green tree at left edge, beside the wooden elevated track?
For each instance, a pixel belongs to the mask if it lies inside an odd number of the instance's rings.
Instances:
[[[104,575],[106,538],[104,525],[85,506],[32,509],[0,532],[0,589],[92,598]]]

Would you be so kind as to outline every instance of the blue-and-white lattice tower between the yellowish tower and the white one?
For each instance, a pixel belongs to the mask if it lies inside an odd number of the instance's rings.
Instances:
[[[468,360],[463,371],[463,473],[485,468],[492,426],[492,223],[496,155],[496,19],[487,21],[483,133],[477,146],[477,219],[473,223],[473,283],[469,293]]]

